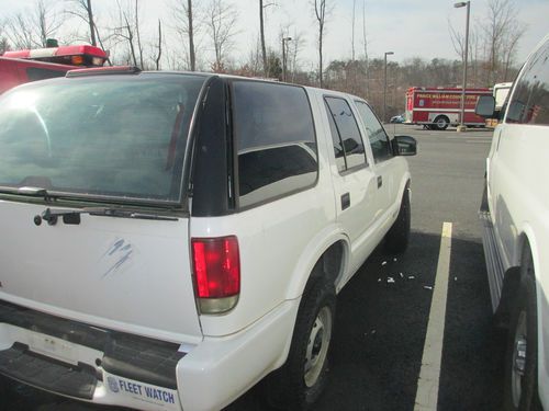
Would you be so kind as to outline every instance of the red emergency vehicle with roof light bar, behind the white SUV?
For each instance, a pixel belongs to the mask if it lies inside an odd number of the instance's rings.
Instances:
[[[63,77],[75,68],[101,67],[107,58],[101,48],[86,45],[5,52],[0,57],[0,94],[25,82]]]

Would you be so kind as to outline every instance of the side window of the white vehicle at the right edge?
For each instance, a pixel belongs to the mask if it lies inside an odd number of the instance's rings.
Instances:
[[[528,61],[507,110],[507,123],[549,125],[549,42]]]

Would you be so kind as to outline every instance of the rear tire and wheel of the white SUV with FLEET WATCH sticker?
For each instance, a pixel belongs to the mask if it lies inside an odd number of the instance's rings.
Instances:
[[[309,410],[322,395],[328,377],[335,312],[334,285],[320,278],[302,297],[285,364],[267,381],[271,406]]]

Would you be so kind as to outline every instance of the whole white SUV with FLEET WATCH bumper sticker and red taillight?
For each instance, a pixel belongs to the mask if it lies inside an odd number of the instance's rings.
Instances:
[[[141,410],[268,375],[278,406],[318,398],[336,294],[406,248],[413,138],[352,95],[132,68],[0,106],[0,374]]]

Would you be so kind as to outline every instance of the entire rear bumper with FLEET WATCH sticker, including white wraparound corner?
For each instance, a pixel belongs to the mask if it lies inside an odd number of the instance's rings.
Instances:
[[[59,319],[0,301],[0,373],[83,401],[219,410],[285,361],[299,300],[194,346]]]

